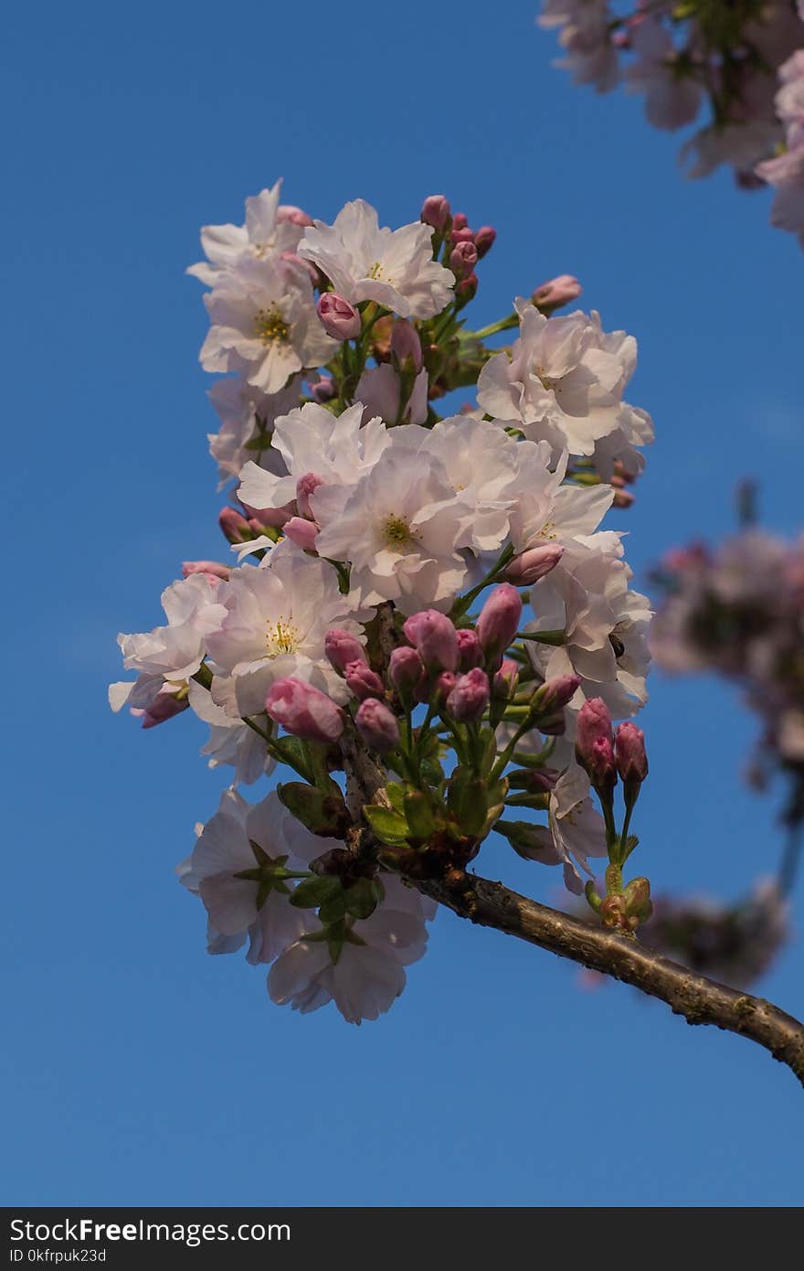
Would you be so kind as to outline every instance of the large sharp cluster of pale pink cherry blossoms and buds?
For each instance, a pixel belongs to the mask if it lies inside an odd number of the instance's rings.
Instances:
[[[575,894],[607,857],[586,888],[605,925],[650,913],[622,867],[652,613],[601,529],[653,437],[625,400],[636,343],[556,316],[569,276],[470,328],[494,238],[443,196],[391,230],[359,200],[314,220],[277,183],[243,226],[207,226],[191,269],[232,559],[185,562],[166,620],[119,636],[135,679],[111,703],[208,724],[231,780],[180,881],[210,952],[246,948],[301,1012],[386,1010],[424,953],[427,883],[460,887],[493,831]]]

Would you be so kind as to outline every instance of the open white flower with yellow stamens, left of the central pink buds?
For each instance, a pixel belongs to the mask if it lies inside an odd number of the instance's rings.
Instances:
[[[234,679],[239,714],[262,713],[273,681],[288,675],[343,700],[344,683],[324,657],[324,636],[330,627],[359,636],[361,627],[326,561],[286,540],[259,567],[232,569],[218,596],[224,619],[207,648],[222,675]],[[224,707],[221,693],[229,691],[229,684],[213,681],[212,698]]]

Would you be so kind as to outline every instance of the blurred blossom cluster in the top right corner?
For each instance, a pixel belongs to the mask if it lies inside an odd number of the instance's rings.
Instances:
[[[544,0],[539,23],[559,29],[558,65],[575,83],[641,93],[654,127],[705,112],[681,153],[688,174],[727,164],[742,188],[774,186],[772,224],[801,235],[803,15],[801,0]]]

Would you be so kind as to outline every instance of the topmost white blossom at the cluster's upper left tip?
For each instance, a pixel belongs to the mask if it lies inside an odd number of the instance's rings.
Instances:
[[[279,206],[281,189],[279,179],[272,189],[246,198],[245,225],[204,225],[201,245],[210,263],[192,264],[187,272],[215,286],[243,258],[271,261],[295,253],[305,228]]]

